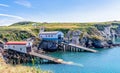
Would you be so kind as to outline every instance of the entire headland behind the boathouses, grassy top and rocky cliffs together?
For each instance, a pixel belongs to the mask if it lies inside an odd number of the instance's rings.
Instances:
[[[86,47],[104,48],[110,47],[116,37],[120,37],[119,22],[105,23],[16,23],[9,27],[0,27],[0,40],[21,41],[31,36],[38,36],[41,26],[46,31],[62,31],[65,38],[74,44]]]

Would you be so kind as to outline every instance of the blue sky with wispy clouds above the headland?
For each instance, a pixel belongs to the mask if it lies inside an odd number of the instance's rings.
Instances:
[[[0,26],[20,21],[120,20],[120,0],[0,0]]]

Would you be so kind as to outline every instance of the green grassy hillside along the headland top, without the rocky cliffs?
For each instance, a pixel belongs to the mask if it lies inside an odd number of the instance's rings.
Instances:
[[[67,33],[69,30],[79,29],[91,35],[98,35],[97,30],[103,30],[104,26],[113,25],[117,28],[120,22],[100,22],[100,23],[38,23],[38,22],[18,22],[11,26],[0,27],[0,39],[20,41],[31,36],[38,36],[39,28],[45,27],[46,31],[62,31]],[[36,25],[36,26],[35,26]],[[96,28],[98,27],[98,28]]]

